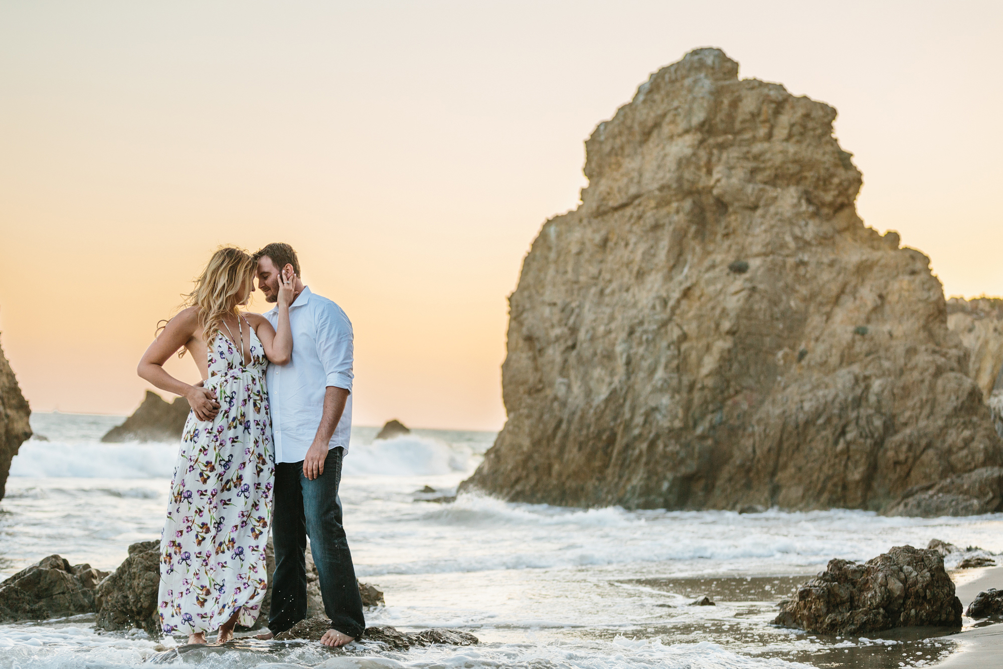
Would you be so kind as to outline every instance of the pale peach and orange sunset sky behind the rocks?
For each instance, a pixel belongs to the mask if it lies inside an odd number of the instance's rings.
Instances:
[[[5,0],[0,343],[34,410],[128,413],[213,249],[285,241],[354,324],[356,424],[497,429],[507,297],[583,141],[700,46],[833,105],[865,223],[1001,295],[1001,7]]]

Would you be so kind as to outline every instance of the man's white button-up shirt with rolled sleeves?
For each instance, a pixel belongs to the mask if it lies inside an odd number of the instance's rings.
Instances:
[[[265,317],[276,327],[279,308]],[[345,411],[328,444],[328,449],[341,446],[347,452],[352,430],[352,324],[341,307],[306,286],[289,307],[289,323],[292,359],[284,365],[270,364],[267,372],[275,461],[299,462],[306,457],[324,415],[327,386],[348,390]]]

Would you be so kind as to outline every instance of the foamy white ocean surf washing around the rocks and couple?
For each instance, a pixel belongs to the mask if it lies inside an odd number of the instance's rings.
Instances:
[[[0,501],[0,577],[57,553],[112,570],[158,539],[176,443],[100,442],[122,416],[34,413]],[[455,495],[492,432],[356,427],[341,498],[358,577],[386,606],[368,625],[462,629],[473,647],[342,656],[318,644],[182,649],[173,666],[325,669],[927,666],[944,631],[826,637],[776,628],[776,603],[828,560],[941,539],[1003,553],[1003,515],[884,518],[566,509]],[[41,437],[44,437],[41,438]],[[434,492],[422,491],[426,486]],[[950,563],[949,567],[952,567]],[[690,606],[703,595],[715,606]],[[99,634],[93,615],[0,625],[0,669],[132,667],[183,639]],[[363,652],[360,648],[359,652]]]

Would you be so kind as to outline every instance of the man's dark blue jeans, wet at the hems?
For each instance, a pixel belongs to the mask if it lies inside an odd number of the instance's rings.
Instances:
[[[303,475],[302,461],[275,464],[275,574],[268,616],[268,629],[275,634],[307,616],[308,536],[331,627],[356,639],[366,628],[352,554],[341,527],[338,485],[343,455],[340,446],[327,451],[324,473],[313,480]]]

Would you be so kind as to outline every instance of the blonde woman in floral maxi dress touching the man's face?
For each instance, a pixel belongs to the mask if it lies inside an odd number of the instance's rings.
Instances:
[[[261,314],[242,313],[254,291],[254,263],[221,248],[189,305],[163,327],[139,361],[139,376],[192,405],[160,538],[159,616],[165,634],[206,643],[250,627],[268,587],[265,543],[272,517],[272,419],[265,368],[293,350],[289,304],[295,277],[279,285],[278,332]],[[192,353],[203,383],[171,376],[163,363]]]

